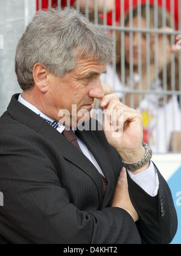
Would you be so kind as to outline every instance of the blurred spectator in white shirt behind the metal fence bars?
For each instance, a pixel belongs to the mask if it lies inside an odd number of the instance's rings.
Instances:
[[[141,6],[141,28],[147,28],[146,20],[146,5]],[[154,28],[154,5],[149,5],[150,28]],[[171,18],[170,14],[165,10],[166,16],[166,28],[162,27],[162,16],[163,11],[161,7],[158,7],[158,28],[164,29],[165,31],[171,30]],[[138,28],[138,7],[133,9],[133,27]],[[129,27],[129,12],[125,15],[125,26]],[[158,47],[155,48],[154,34],[150,34],[150,70],[147,69],[147,34],[141,33],[141,72],[142,76],[138,74],[139,65],[139,33],[133,33],[133,77],[130,77],[130,33],[125,32],[124,36],[124,54],[125,54],[125,85],[122,85],[121,77],[121,31],[116,31],[116,72],[113,71],[112,66],[107,66],[107,74],[101,76],[101,81],[108,83],[112,86],[114,91],[124,91],[124,89],[134,89],[135,91],[140,89],[139,85],[141,83],[142,90],[153,90],[161,92],[163,88],[163,74],[164,66],[167,70],[167,91],[171,90],[171,53],[177,51],[174,46],[171,46],[171,36],[163,36],[159,34],[158,36]],[[167,59],[164,63],[163,48],[167,51]],[[158,77],[155,77],[155,50],[157,50],[158,56]],[[175,81],[176,90],[179,90],[179,63],[178,55],[175,54]],[[148,75],[149,80],[148,82]],[[127,106],[131,105],[131,99],[133,100],[133,106],[142,114],[142,120],[144,124],[144,141],[150,144],[153,152],[165,153],[168,150],[180,150],[180,130],[181,130],[181,120],[180,120],[180,106],[177,101],[176,95],[168,95],[166,102],[164,101],[163,95],[160,94],[122,94],[117,92],[119,98],[125,97],[125,104]],[[173,118],[173,119],[172,119]],[[165,132],[164,132],[165,130]],[[174,141],[176,145],[174,146]]]

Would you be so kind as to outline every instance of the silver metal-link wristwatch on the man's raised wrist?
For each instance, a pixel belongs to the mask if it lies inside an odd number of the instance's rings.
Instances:
[[[145,142],[142,142],[142,146],[145,148],[145,155],[142,157],[141,160],[138,162],[124,162],[122,161],[122,164],[126,169],[129,170],[137,170],[141,167],[143,167],[145,164],[147,164],[151,157],[152,157],[152,150],[151,147],[148,146]]]

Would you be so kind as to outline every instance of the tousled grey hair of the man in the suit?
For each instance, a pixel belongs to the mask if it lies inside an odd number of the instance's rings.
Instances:
[[[23,90],[34,86],[33,66],[40,63],[57,77],[75,68],[77,57],[112,60],[113,41],[100,26],[89,22],[74,8],[39,11],[16,48],[15,71]]]

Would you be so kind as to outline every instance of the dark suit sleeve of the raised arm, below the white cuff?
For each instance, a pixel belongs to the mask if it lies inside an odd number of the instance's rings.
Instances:
[[[154,167],[157,170],[156,165]],[[127,174],[130,199],[138,213],[136,222],[142,243],[170,243],[177,231],[177,214],[167,182],[157,170],[159,190],[152,197]]]

